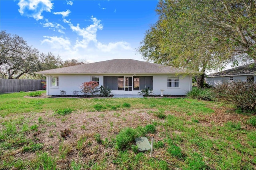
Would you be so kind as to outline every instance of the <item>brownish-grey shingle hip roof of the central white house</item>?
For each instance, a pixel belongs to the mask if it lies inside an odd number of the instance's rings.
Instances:
[[[112,59],[95,63],[81,64],[70,67],[62,67],[45,71],[38,71],[37,74],[117,74],[117,73],[185,73],[185,69],[160,65],[156,63],[148,63],[134,59]]]

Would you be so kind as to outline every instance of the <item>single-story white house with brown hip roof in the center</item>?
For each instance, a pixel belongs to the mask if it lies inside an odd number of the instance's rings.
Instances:
[[[145,87],[153,89],[155,95],[160,95],[161,90],[164,95],[185,95],[192,89],[192,76],[186,70],[133,59],[112,59],[36,73],[46,76],[47,95],[60,95],[60,90],[73,95],[88,81],[108,86],[113,95],[137,95]]]

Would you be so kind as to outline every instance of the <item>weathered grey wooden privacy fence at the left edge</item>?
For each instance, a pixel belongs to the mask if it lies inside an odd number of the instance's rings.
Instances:
[[[0,79],[0,93],[43,90],[46,80]]]

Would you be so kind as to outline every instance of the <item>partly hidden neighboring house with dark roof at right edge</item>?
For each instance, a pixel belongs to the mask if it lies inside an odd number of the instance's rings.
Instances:
[[[212,86],[234,80],[256,81],[256,64],[250,63],[206,76],[206,83]]]

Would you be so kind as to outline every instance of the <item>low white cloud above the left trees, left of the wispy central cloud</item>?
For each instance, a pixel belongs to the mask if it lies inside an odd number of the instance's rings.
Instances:
[[[41,41],[41,43],[48,43],[51,48],[53,49],[65,49],[70,50],[70,40],[68,38],[62,38],[62,37],[50,37],[50,36],[44,36],[44,40]]]

